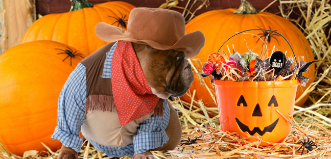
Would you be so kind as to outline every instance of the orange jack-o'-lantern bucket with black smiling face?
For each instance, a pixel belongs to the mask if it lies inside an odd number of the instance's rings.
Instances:
[[[241,137],[258,136],[266,142],[281,142],[290,133],[291,125],[276,110],[293,115],[298,84],[297,80],[215,81],[222,130],[237,132]],[[261,145],[270,145],[266,142]]]

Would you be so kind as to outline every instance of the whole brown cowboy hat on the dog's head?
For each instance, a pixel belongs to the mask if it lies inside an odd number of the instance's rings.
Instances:
[[[135,8],[131,11],[127,31],[99,22],[97,36],[106,42],[129,41],[147,44],[160,50],[179,50],[185,59],[199,54],[205,38],[200,31],[185,35],[185,20],[179,12],[157,8]]]

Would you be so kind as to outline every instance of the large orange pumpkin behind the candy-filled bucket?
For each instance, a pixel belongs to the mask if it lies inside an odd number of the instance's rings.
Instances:
[[[299,59],[300,56],[303,56],[304,61],[306,62],[314,60],[314,55],[309,42],[305,39],[304,35],[294,24],[280,16],[271,13],[257,13],[257,10],[252,8],[252,6],[246,1],[242,2],[242,6],[237,11],[235,9],[208,11],[198,15],[186,24],[186,34],[199,30],[204,34],[206,39],[204,47],[194,58],[200,59],[202,63],[207,62],[209,54],[212,52],[217,52],[220,46],[234,34],[244,30],[261,28],[274,30],[285,36],[285,38],[287,38],[292,45],[297,59]],[[260,53],[263,40],[266,38],[268,33],[262,31],[250,31],[247,33],[258,35],[262,40],[258,40],[259,38],[257,36],[250,34],[237,35],[236,37],[230,39],[225,44],[225,46],[223,46],[224,49],[222,48],[227,52],[228,56],[229,51],[226,45],[228,45],[230,51],[233,49],[233,44],[235,51],[238,51],[240,54],[248,52],[248,48],[244,39],[246,40],[249,49],[253,49],[256,46],[253,52],[257,52],[258,54]],[[275,33],[270,33],[267,42],[268,49],[271,48],[268,51],[269,56],[272,53],[271,51],[273,46],[275,46],[275,50],[278,49],[283,52],[287,51],[287,57],[293,57],[287,42],[280,36],[277,36]],[[306,84],[307,86],[313,83],[315,78],[315,65],[312,65],[309,68],[309,71],[303,73],[303,75],[311,78]],[[202,99],[207,107],[216,107],[214,100],[206,91],[205,87],[200,85],[200,79],[202,78],[199,78],[197,75],[195,76],[195,80],[189,91],[192,94],[193,90],[196,89],[196,100]],[[209,88],[212,88],[210,84],[210,78],[204,78],[204,80],[208,84]],[[299,98],[303,93],[302,90],[304,91],[306,88],[308,87],[302,87],[302,89],[299,88],[297,90],[296,98]],[[296,105],[303,105],[308,96],[309,95],[304,96],[298,103],[296,103]],[[184,95],[182,98],[183,100],[188,100],[188,102],[191,101],[191,98],[189,98],[187,95]]]

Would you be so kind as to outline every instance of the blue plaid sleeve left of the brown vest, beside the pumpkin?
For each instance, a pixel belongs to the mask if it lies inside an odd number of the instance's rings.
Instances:
[[[58,100],[57,123],[51,139],[80,152],[83,138],[79,137],[85,119],[86,70],[79,63],[65,82]]]

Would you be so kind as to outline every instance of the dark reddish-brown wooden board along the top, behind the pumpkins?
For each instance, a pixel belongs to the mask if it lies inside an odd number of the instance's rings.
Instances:
[[[109,2],[114,0],[88,0],[91,4],[99,4],[104,2]],[[158,8],[161,4],[165,3],[166,0],[121,0],[127,3],[130,3],[136,7],[150,7]],[[247,0],[251,3],[255,9],[262,10],[268,6],[273,0]],[[179,1],[178,6],[185,7],[187,0]],[[191,4],[193,0],[191,0]],[[199,1],[197,2],[197,4]],[[199,15],[203,12],[216,10],[216,9],[225,9],[225,8],[238,8],[241,4],[240,0],[210,0],[210,5],[208,8],[202,8],[197,11],[196,15]],[[37,14],[46,15],[51,13],[62,13],[70,10],[69,0],[36,0]],[[279,14],[279,2],[277,1],[272,6],[270,6],[267,11],[274,14]],[[182,12],[182,11],[180,11]]]

